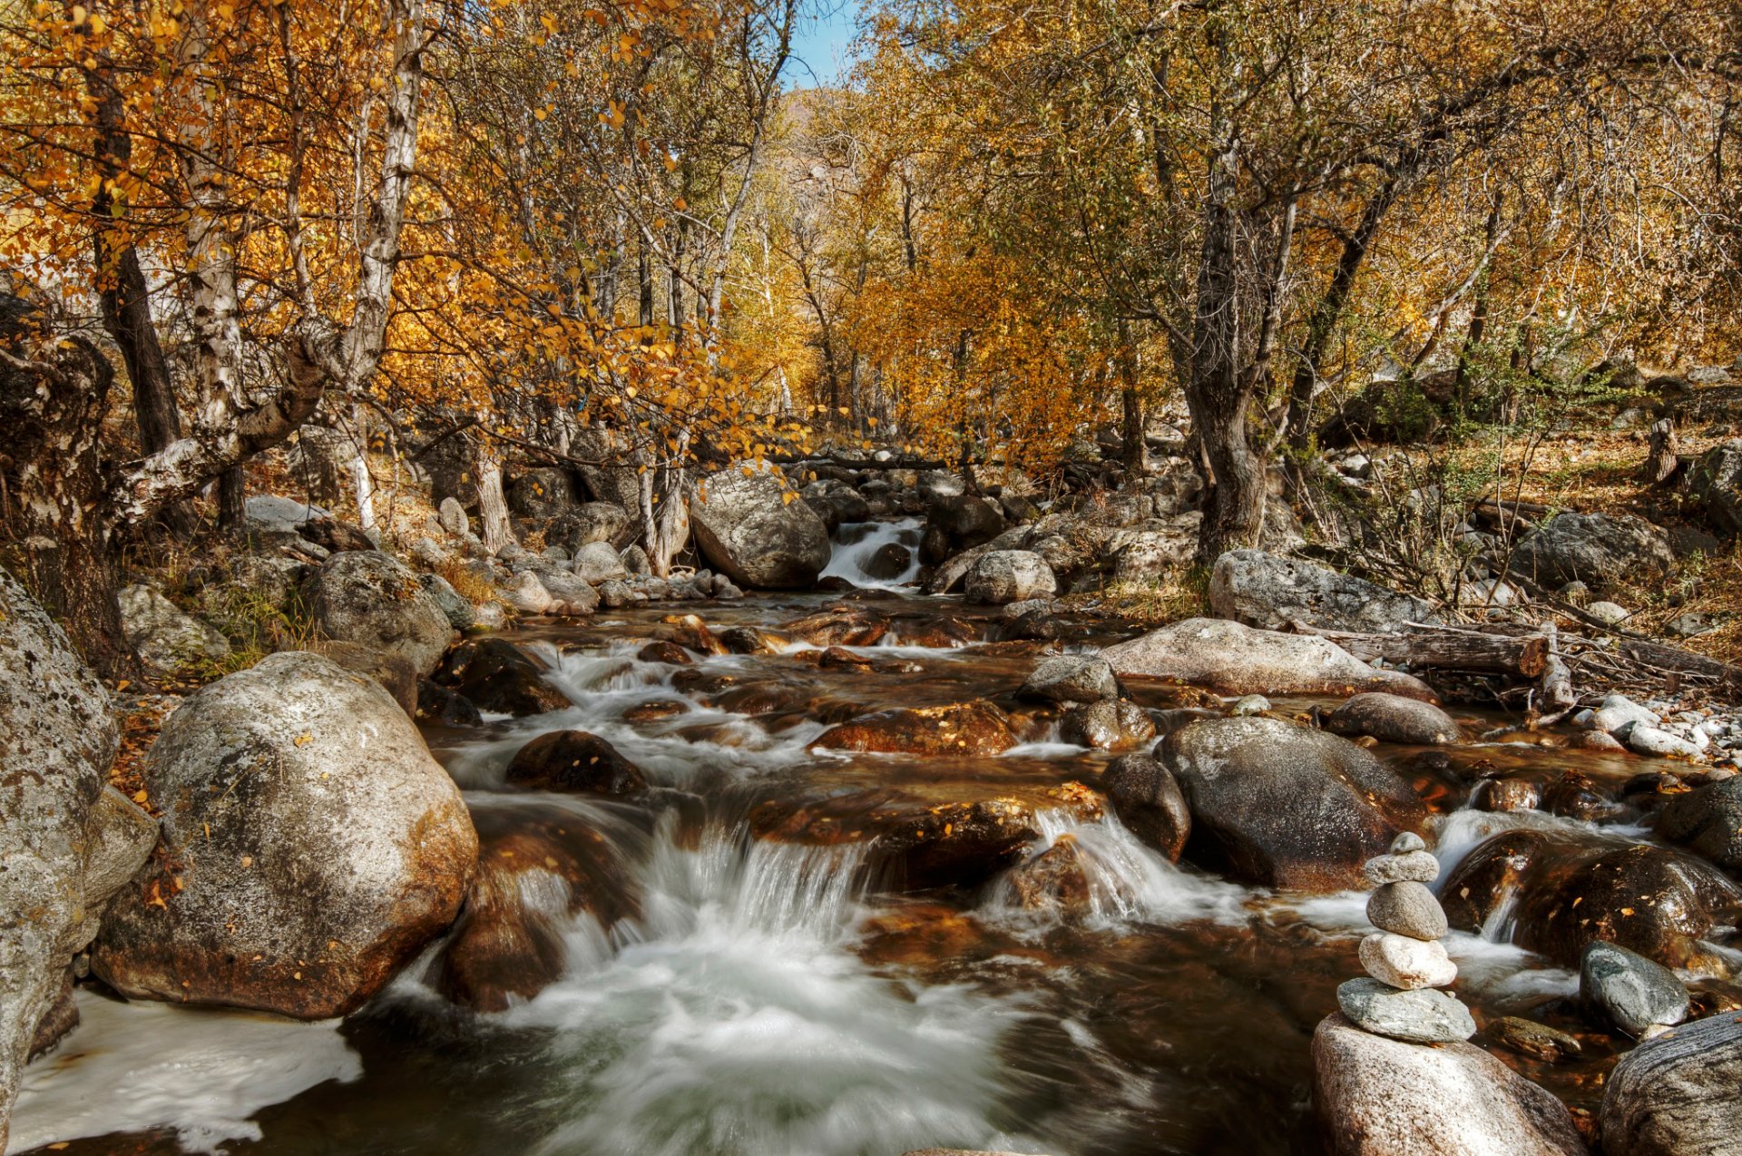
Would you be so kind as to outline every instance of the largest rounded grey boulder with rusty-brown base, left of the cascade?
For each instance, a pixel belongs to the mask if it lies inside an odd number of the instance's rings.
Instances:
[[[162,843],[91,959],[129,998],[347,1015],[453,923],[477,860],[392,695],[307,651],[186,698],[145,780]]]

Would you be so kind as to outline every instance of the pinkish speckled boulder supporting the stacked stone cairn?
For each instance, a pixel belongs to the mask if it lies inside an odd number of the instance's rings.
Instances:
[[[1475,1045],[1402,1043],[1331,1015],[1312,1059],[1338,1156],[1585,1156],[1566,1106]]]

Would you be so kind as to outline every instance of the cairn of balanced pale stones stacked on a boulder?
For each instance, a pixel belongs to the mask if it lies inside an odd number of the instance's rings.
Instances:
[[[1446,912],[1427,888],[1439,860],[1421,836],[1404,832],[1388,855],[1362,867],[1374,884],[1367,923],[1378,928],[1361,940],[1367,970],[1336,989],[1336,1003],[1362,1031],[1406,1043],[1458,1043],[1475,1034],[1470,1010],[1448,991],[1458,964],[1446,954]]]

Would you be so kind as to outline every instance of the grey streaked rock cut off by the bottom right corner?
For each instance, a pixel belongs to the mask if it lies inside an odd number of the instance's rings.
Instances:
[[[1683,1024],[1629,1052],[1603,1092],[1604,1156],[1742,1151],[1742,1017]]]

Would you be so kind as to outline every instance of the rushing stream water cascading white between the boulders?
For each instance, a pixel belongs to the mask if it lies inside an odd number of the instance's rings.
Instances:
[[[864,580],[868,559],[915,529],[852,531],[831,573]],[[772,627],[824,604],[760,597],[707,613],[716,627]],[[85,1024],[30,1069],[9,1151],[1315,1151],[1306,1045],[1359,971],[1364,897],[1275,897],[1167,864],[1111,815],[1061,804],[1061,787],[1094,783],[1104,756],[1056,742],[1043,721],[996,759],[812,754],[831,721],[880,707],[993,696],[1021,712],[1009,693],[1031,646],[902,642],[942,620],[984,637],[982,611],[888,590],[864,606],[894,622],[887,644],[859,649],[869,669],[819,665],[801,644],[693,667],[638,660],[674,608],[528,635],[573,705],[429,738],[486,843],[545,823],[603,848],[598,886],[622,893],[620,911],[570,916],[563,888],[538,900],[559,921],[554,984],[472,1013],[437,994],[425,963],[348,1022],[312,1025],[82,992]],[[1103,639],[1084,628],[1077,641]],[[505,789],[512,754],[563,728],[610,740],[655,785],[650,801]],[[1557,756],[1482,750],[1543,770]],[[1420,782],[1435,797],[1432,776]],[[1024,905],[1009,876],[902,893],[852,837],[878,810],[995,797],[1035,808],[1028,858],[1075,857],[1084,904]],[[815,817],[847,837],[766,837]],[[1570,823],[1437,822],[1446,869],[1502,825]],[[1460,994],[1482,1017],[1563,1015],[1577,978],[1507,938],[1503,917],[1451,937]],[[1589,1106],[1601,1095],[1589,1072],[1531,1074]]]

